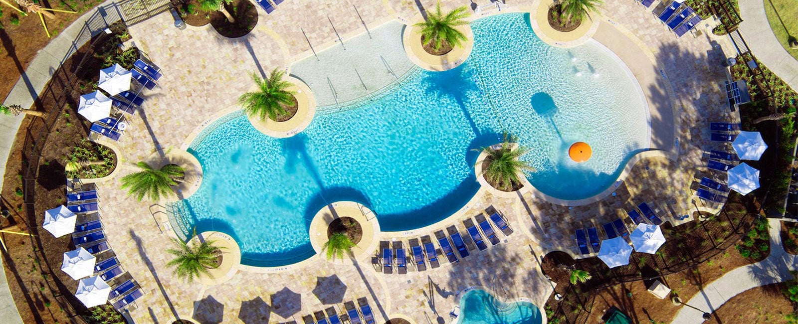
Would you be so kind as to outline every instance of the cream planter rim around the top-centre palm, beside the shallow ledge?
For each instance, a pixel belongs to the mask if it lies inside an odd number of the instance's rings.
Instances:
[[[413,21],[423,22],[424,20],[421,18],[421,14],[419,14],[417,15],[417,18],[413,19]],[[471,26],[456,26],[455,29],[460,30],[460,32],[465,34],[466,38],[468,39],[464,41],[462,45],[455,46],[448,52],[436,55],[427,52],[425,49],[425,45],[421,40],[422,36],[420,26],[405,26],[405,30],[402,34],[402,42],[405,45],[405,53],[410,61],[413,61],[413,63],[422,69],[427,69],[430,71],[446,71],[448,69],[454,69],[457,66],[460,66],[460,64],[463,64],[463,62],[468,58],[468,55],[471,55],[471,50],[474,47],[474,33],[471,30]]]

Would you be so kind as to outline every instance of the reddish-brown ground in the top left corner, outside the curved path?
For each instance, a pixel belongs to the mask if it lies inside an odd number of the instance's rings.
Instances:
[[[78,12],[77,14],[53,13],[55,18],[45,18],[50,34],[53,38],[56,37],[66,26],[81,17],[82,13],[97,6],[100,2],[101,0],[50,2],[55,9]],[[22,17],[8,6],[2,6],[0,13],[2,13],[2,18],[0,18],[0,43],[2,43],[0,46],[0,99],[2,100],[0,102],[2,102],[17,83],[22,71],[27,69],[38,50],[45,47],[50,38],[47,38],[37,15],[31,14]],[[14,24],[12,22],[14,20],[18,21],[18,24]]]

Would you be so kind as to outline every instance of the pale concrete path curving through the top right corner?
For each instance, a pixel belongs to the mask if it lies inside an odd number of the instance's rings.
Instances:
[[[762,0],[740,2],[743,22],[738,27],[759,61],[784,80],[792,89],[798,90],[798,60],[787,53],[770,29],[768,16],[764,14]]]

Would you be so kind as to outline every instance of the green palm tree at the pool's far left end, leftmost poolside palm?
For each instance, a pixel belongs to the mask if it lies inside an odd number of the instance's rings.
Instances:
[[[172,196],[172,186],[178,184],[185,176],[184,168],[176,164],[166,164],[160,169],[152,168],[145,162],[136,164],[141,171],[122,177],[122,188],[130,188],[128,195],[136,196],[141,201],[144,196],[151,200],[160,200],[160,196]]]

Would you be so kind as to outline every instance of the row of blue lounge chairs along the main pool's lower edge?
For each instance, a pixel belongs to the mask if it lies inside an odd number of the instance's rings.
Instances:
[[[500,239],[496,235],[496,231],[493,229],[494,226],[502,231],[505,236],[512,234],[512,228],[510,228],[510,226],[507,224],[507,221],[504,220],[504,218],[499,215],[495,209],[492,211],[493,212],[489,218],[493,224],[489,223],[488,219],[486,219],[481,213],[480,215],[476,215],[476,223],[474,223],[474,220],[471,218],[465,219],[463,221],[466,232],[468,233],[465,238],[470,239],[470,242],[468,243],[473,243],[473,245],[476,246],[476,249],[479,251],[488,249],[488,244],[485,243],[485,239],[487,239],[491,245],[500,243]],[[435,239],[440,246],[440,252],[436,249],[433,240],[429,235],[421,236],[421,243],[419,242],[419,239],[409,239],[410,253],[413,258],[413,267],[416,268],[416,271],[427,270],[427,262],[429,262],[430,267],[440,267],[438,255],[445,257],[445,259],[448,260],[448,263],[459,262],[460,260],[458,259],[457,255],[460,255],[460,258],[467,258],[469,255],[471,255],[471,253],[468,251],[469,248],[466,243],[466,239],[464,239],[464,236],[460,234],[460,231],[458,231],[456,225],[447,227],[445,233],[443,230],[436,231]],[[473,250],[473,248],[471,250]],[[391,274],[393,273],[393,268],[396,267],[397,273],[407,273],[407,251],[405,250],[401,241],[393,241],[393,247],[389,242],[383,241],[380,243],[380,251],[381,254],[378,258],[379,264],[381,264],[382,267],[382,272],[385,274]]]

